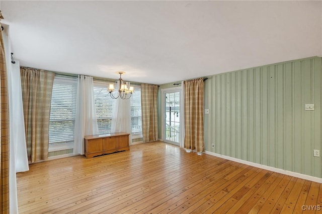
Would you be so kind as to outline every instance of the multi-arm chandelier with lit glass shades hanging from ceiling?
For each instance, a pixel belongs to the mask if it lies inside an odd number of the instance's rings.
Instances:
[[[132,96],[132,93],[134,92],[134,88],[133,88],[133,86],[130,86],[130,82],[123,82],[122,74],[125,74],[124,71],[118,71],[116,73],[120,74],[120,78],[118,79],[117,84],[116,84],[116,86],[118,86],[119,93],[114,95],[113,91],[115,91],[115,88],[114,88],[115,84],[110,84],[110,86],[109,86],[110,96],[113,99],[117,99],[119,97],[123,100],[129,99]],[[128,94],[130,94],[130,95],[128,96]]]

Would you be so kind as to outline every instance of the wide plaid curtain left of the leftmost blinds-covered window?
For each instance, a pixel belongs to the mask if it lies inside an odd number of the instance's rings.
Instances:
[[[55,74],[20,68],[28,160],[48,158],[51,92]]]

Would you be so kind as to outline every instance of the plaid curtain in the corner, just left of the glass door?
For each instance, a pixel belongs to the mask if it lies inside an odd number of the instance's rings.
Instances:
[[[157,85],[141,84],[143,142],[157,140]]]

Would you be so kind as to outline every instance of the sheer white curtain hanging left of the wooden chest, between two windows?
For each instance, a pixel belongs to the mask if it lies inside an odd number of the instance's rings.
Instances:
[[[84,136],[99,133],[93,77],[78,75],[74,154],[84,154]]]

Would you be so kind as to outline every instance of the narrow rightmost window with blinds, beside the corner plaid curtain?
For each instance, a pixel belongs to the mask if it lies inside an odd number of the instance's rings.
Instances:
[[[141,88],[137,86],[134,86],[131,97],[131,125],[132,134],[142,137]]]

